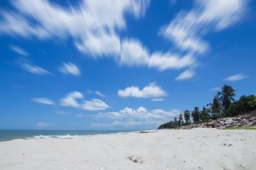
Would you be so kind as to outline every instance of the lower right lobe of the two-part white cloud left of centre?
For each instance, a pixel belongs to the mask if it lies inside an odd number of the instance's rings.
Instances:
[[[87,111],[101,111],[111,108],[105,102],[100,99],[91,99],[90,101],[83,101],[81,108]]]

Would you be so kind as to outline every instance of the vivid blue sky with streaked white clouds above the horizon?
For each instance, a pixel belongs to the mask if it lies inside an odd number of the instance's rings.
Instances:
[[[0,2],[0,129],[155,129],[255,94],[253,0]]]

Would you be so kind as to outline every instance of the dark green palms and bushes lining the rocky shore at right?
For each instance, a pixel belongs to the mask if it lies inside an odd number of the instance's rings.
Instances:
[[[234,97],[236,90],[229,85],[224,85],[221,91],[213,97],[212,103],[203,106],[201,111],[199,107],[195,106],[194,110],[189,110],[180,113],[179,116],[174,117],[174,121],[170,121],[160,125],[158,129],[177,128],[180,126],[200,124],[208,122],[209,119],[217,120],[226,117],[238,116],[248,111],[256,110],[256,96],[241,96],[239,100],[235,101]],[[191,124],[191,119],[193,123]],[[185,122],[183,121],[185,120]],[[254,127],[234,127],[228,129],[253,129]]]

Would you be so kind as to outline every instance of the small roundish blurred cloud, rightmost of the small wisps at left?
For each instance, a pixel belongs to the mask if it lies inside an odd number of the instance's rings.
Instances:
[[[80,67],[79,65],[74,65],[72,62],[62,62],[62,66],[59,67],[58,71],[60,71],[63,74],[72,74],[74,76],[80,76]]]

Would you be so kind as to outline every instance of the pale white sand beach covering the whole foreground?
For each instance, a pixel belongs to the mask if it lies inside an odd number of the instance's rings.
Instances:
[[[256,130],[196,128],[0,142],[0,170],[199,170],[199,167],[256,170]]]

